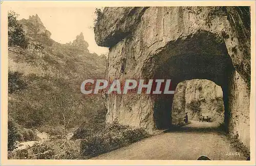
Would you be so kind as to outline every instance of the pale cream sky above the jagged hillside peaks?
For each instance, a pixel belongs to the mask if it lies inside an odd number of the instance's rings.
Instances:
[[[94,7],[26,7],[12,6],[10,10],[19,14],[18,19],[28,19],[30,15],[38,15],[51,38],[59,43],[72,42],[83,33],[84,40],[89,43],[90,53],[98,55],[109,52],[108,48],[98,46],[94,39]]]

